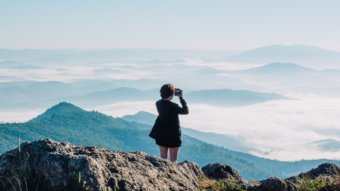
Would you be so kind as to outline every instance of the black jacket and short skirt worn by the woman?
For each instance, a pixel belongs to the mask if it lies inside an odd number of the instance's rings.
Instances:
[[[160,99],[156,102],[158,117],[149,136],[168,144],[181,144],[182,132],[178,115],[187,115],[189,109],[187,103],[180,97],[182,108],[169,100]]]

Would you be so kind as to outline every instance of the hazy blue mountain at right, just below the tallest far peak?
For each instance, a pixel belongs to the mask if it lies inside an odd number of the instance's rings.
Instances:
[[[228,77],[261,84],[270,90],[338,97],[340,71],[314,70],[293,63],[271,63],[257,68],[224,71]]]

